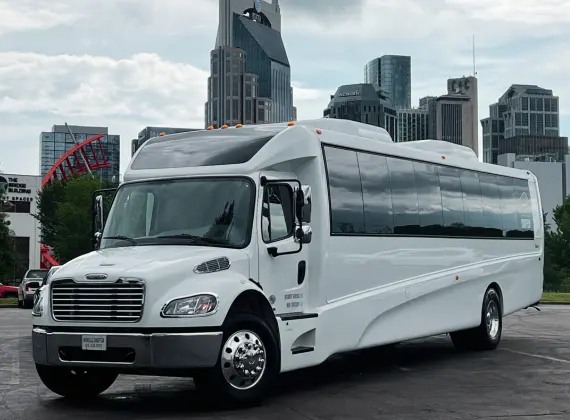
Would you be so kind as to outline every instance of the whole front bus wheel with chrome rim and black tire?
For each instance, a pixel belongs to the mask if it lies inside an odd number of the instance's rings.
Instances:
[[[260,402],[279,371],[277,339],[252,314],[232,316],[223,330],[218,362],[194,376],[196,387],[233,402]]]

